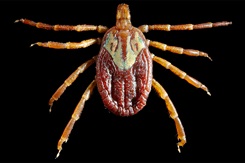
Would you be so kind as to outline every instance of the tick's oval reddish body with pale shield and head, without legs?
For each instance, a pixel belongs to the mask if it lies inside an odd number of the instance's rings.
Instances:
[[[126,5],[117,24],[102,40],[96,82],[104,105],[116,115],[131,116],[145,105],[152,84],[152,58],[143,33],[133,27]]]

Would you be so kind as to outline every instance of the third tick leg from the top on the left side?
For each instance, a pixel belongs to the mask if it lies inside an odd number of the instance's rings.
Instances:
[[[83,73],[91,64],[93,64],[96,60],[96,57],[93,57],[92,59],[86,61],[81,66],[79,66],[76,71],[74,71],[65,81],[64,83],[57,89],[57,91],[52,95],[52,97],[49,100],[50,109],[49,112],[51,112],[53,102],[57,101],[60,96],[64,93],[67,87],[69,87],[78,77],[79,74]]]

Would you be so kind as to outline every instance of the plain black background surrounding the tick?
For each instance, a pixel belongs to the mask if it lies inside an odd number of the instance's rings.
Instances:
[[[87,71],[54,103],[48,100],[99,46],[55,50],[30,44],[37,41],[79,42],[103,37],[96,31],[54,32],[16,19],[48,24],[93,24],[112,27],[116,7],[129,4],[132,24],[185,24],[232,21],[233,25],[194,31],[150,31],[146,38],[168,45],[207,52],[202,57],[150,51],[205,84],[212,96],[154,64],[154,78],[172,99],[185,127],[187,144],[177,151],[176,131],[165,102],[155,91],[137,115],[122,118],[104,109],[97,89],[54,160],[56,145],[83,91],[95,76]],[[1,159],[5,161],[241,161],[243,159],[242,2],[238,1],[6,1],[1,2]],[[239,72],[241,71],[241,72]],[[243,159],[244,160],[244,159]]]

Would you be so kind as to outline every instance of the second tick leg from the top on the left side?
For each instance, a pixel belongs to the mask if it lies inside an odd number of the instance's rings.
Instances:
[[[83,40],[81,42],[66,42],[66,43],[61,43],[61,42],[53,42],[53,41],[49,41],[49,42],[37,42],[34,44],[31,44],[31,46],[33,45],[38,45],[38,46],[42,46],[45,48],[53,48],[53,49],[79,49],[79,48],[86,48],[90,45],[93,44],[100,44],[101,43],[101,39],[100,38],[92,38],[92,39],[88,39],[88,40]]]

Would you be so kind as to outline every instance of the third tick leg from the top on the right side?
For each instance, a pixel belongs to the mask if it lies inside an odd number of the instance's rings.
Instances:
[[[168,62],[165,59],[162,59],[160,57],[154,56],[153,55],[153,60],[157,63],[159,63],[160,65],[162,65],[163,67],[165,67],[166,69],[171,70],[175,75],[179,76],[181,79],[186,80],[188,83],[190,83],[191,85],[195,86],[196,88],[201,88],[204,91],[207,92],[208,95],[211,96],[210,92],[208,91],[208,88],[203,85],[201,82],[199,82],[198,80],[190,77],[189,75],[187,75],[184,71],[178,69],[177,67],[175,67],[174,65],[172,65],[170,62]]]

